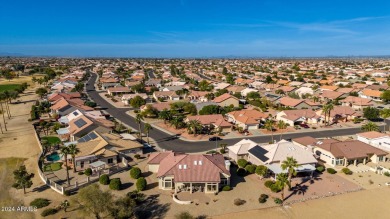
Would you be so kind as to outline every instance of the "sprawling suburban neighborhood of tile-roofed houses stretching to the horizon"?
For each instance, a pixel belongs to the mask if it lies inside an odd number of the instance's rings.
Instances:
[[[6,218],[224,218],[390,186],[388,59],[4,57],[0,75]]]

